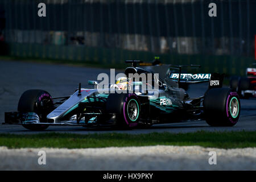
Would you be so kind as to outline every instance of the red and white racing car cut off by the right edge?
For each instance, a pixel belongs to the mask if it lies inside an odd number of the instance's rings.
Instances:
[[[246,77],[231,77],[230,88],[240,98],[256,97],[256,68],[246,68]]]

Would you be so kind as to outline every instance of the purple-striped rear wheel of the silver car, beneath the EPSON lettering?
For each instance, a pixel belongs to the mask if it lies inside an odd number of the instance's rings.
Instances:
[[[229,88],[213,88],[205,93],[205,120],[210,126],[234,126],[240,117],[240,98]]]

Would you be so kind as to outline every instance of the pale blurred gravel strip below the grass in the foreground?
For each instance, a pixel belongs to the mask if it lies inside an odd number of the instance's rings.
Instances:
[[[46,165],[39,165],[39,151]],[[210,165],[209,151],[217,153]],[[0,170],[255,170],[256,148],[220,149],[199,146],[108,148],[0,147]]]

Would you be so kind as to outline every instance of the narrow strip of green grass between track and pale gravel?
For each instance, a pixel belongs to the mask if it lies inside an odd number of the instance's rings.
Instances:
[[[256,147],[256,131],[196,133],[149,133],[149,134],[60,134],[32,135],[0,134],[0,146],[8,148],[96,148],[127,146],[202,146],[217,148]]]

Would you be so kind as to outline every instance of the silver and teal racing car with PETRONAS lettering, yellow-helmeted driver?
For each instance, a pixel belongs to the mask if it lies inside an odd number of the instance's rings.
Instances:
[[[27,90],[18,102],[18,111],[5,113],[5,123],[22,125],[28,130],[48,126],[118,127],[133,129],[204,119],[210,126],[234,126],[240,117],[237,92],[222,88],[224,75],[184,73],[183,69],[200,65],[151,65],[131,63],[117,82],[103,88],[88,81],[93,88],[79,88],[71,96],[52,97],[45,90]],[[143,79],[130,75],[154,75]],[[181,84],[209,82],[203,96],[191,98]],[[146,89],[145,89],[146,86]],[[125,92],[123,92],[125,91]]]

